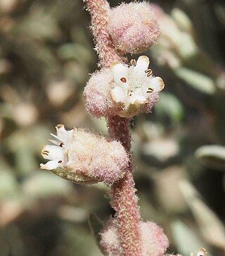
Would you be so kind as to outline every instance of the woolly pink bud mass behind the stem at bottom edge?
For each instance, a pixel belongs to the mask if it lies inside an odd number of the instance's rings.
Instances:
[[[167,236],[160,226],[152,221],[141,221],[141,256],[163,256],[169,246]],[[119,233],[117,231],[117,219],[109,219],[101,232],[101,247],[105,255],[122,256]]]

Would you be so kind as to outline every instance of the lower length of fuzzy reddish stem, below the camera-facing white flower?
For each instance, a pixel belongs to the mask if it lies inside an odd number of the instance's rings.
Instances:
[[[127,173],[118,183],[111,187],[111,205],[116,211],[117,228],[120,233],[120,243],[124,255],[141,255],[141,231],[140,231],[140,211],[138,198],[135,195],[134,177],[132,175],[131,159],[131,135],[129,131],[129,119],[120,116],[108,118],[108,128],[110,137],[120,140],[129,153],[129,166]]]

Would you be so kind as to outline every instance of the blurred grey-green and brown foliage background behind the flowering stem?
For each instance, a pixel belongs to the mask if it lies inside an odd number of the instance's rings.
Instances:
[[[166,87],[132,122],[141,214],[169,252],[223,256],[225,2],[151,3],[162,34],[145,54]],[[107,133],[82,97],[98,62],[89,20],[81,0],[0,0],[0,256],[101,255],[88,219],[112,214],[108,188],[39,170],[56,124]]]

